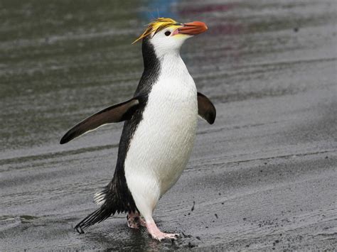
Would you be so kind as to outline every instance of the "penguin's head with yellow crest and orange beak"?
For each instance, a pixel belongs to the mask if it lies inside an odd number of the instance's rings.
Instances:
[[[171,18],[157,18],[149,23],[143,34],[134,41],[146,39],[156,50],[157,55],[176,53],[186,39],[207,30],[205,23],[194,21],[191,23],[178,23]]]

